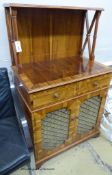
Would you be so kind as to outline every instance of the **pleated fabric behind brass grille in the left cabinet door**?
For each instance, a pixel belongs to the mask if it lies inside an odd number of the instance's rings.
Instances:
[[[68,137],[70,111],[62,108],[46,114],[42,120],[42,148],[51,150],[64,143]]]

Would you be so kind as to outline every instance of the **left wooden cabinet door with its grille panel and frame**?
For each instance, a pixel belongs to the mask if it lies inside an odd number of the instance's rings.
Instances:
[[[70,100],[33,114],[34,146],[38,160],[72,143],[79,111],[76,103]]]

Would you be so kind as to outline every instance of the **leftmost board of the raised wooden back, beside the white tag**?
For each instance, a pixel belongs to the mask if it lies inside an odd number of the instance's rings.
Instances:
[[[19,8],[17,10],[18,39],[21,42],[22,52],[19,53],[19,63],[30,63],[32,59],[31,10]]]

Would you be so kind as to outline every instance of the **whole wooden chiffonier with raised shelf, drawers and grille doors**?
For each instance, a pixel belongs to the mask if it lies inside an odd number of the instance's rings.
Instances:
[[[112,76],[110,68],[94,61],[102,10],[5,5],[14,79],[37,168],[99,134]]]

